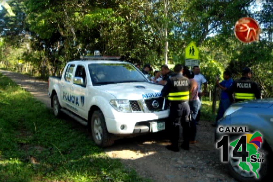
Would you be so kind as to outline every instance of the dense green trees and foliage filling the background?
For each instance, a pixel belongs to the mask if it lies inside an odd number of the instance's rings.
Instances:
[[[258,2],[258,1],[257,1]],[[254,70],[264,96],[273,96],[273,2],[271,0],[11,0],[16,16],[0,10],[2,66],[43,77],[59,74],[67,61],[100,50],[156,68],[184,64],[190,41],[200,49],[210,81],[229,67],[239,77]],[[256,19],[260,41],[239,42],[234,24]]]

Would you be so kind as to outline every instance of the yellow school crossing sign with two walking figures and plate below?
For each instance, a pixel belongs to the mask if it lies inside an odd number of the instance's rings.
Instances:
[[[185,66],[199,66],[199,50],[195,43],[191,41],[185,48]]]

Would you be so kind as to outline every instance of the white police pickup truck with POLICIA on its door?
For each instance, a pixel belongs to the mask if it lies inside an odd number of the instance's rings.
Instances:
[[[169,109],[162,86],[132,64],[107,57],[68,62],[62,77],[49,77],[48,94],[54,115],[61,112],[88,126],[101,147],[115,135],[158,132],[165,129]]]

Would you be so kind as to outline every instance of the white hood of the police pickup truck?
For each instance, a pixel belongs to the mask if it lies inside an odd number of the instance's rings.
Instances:
[[[160,97],[162,85],[156,85],[146,82],[141,83],[120,83],[95,86],[101,91],[110,93],[116,99],[140,100],[152,97]]]

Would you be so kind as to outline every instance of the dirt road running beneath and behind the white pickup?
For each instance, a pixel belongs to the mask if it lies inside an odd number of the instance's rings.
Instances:
[[[47,82],[19,73],[1,72],[50,107]],[[83,126],[81,128],[86,131]],[[120,139],[114,146],[105,149],[105,152],[111,158],[120,158],[141,176],[155,181],[236,181],[219,160],[220,154],[215,149],[213,133],[211,123],[200,121],[197,125],[198,143],[191,144],[189,151],[167,150],[169,141],[162,133],[157,133]]]

